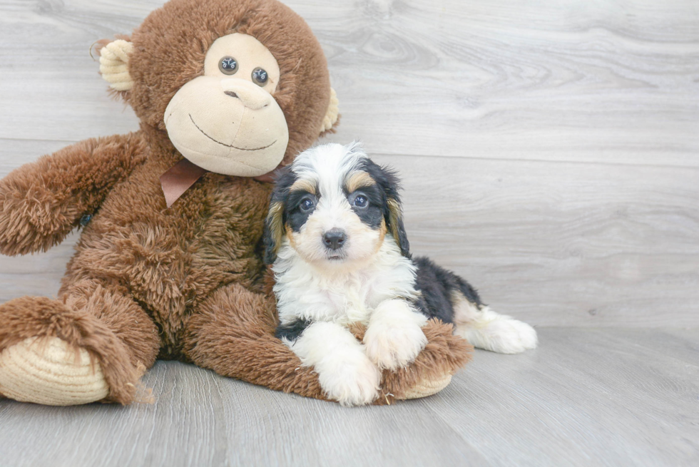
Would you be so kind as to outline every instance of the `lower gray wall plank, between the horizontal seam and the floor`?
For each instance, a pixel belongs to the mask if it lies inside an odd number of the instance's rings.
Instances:
[[[26,154],[53,145],[12,142]],[[545,326],[699,326],[699,170],[375,159],[403,175],[414,254],[462,274],[494,309]],[[0,300],[55,294],[76,238],[0,257]]]

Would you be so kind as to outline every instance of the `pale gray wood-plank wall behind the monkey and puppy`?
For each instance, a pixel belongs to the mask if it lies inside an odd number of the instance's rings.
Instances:
[[[534,324],[699,325],[699,4],[287,3],[329,58],[330,140],[404,175],[414,252]],[[0,0],[0,176],[137,128],[88,49],[160,4]],[[55,294],[75,238],[0,257],[0,300]]]

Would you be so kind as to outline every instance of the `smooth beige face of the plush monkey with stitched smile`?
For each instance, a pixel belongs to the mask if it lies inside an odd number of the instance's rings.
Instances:
[[[209,48],[204,74],[180,88],[165,109],[170,141],[206,170],[254,177],[282,161],[289,130],[272,97],[279,65],[252,36],[228,34]]]

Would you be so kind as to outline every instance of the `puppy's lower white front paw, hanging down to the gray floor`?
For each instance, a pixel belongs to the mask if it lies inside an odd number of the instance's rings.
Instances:
[[[370,404],[379,395],[381,372],[364,354],[338,359],[318,371],[320,386],[330,399],[343,406]]]

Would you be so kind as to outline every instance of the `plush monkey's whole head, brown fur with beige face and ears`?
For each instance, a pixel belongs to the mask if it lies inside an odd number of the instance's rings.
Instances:
[[[320,43],[277,0],[170,0],[102,45],[102,76],[141,125],[212,172],[270,172],[338,120]]]

